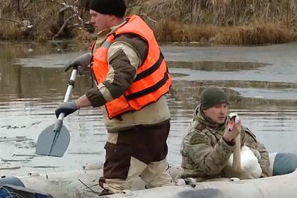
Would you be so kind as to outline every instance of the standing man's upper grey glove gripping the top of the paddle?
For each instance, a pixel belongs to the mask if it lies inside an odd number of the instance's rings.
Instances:
[[[78,68],[78,74],[83,74],[83,71],[86,71],[91,63],[92,54],[91,52],[88,52],[86,54],[81,55],[80,57],[77,57],[73,62],[69,62],[64,66],[64,71],[68,71],[69,69],[72,69],[74,67]]]

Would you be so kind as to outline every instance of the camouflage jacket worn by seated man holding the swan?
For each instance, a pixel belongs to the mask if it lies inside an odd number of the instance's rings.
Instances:
[[[194,119],[182,140],[181,177],[194,177],[197,181],[225,177],[223,168],[234,149],[234,146],[229,146],[223,140],[227,122],[228,120],[223,124],[211,123],[202,115],[200,105],[196,107]],[[262,177],[269,176],[269,153],[266,148],[247,127],[242,126],[240,136],[241,145],[250,147],[254,153],[260,153]]]

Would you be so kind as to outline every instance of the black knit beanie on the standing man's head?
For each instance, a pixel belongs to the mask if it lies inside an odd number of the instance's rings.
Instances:
[[[124,0],[91,0],[90,9],[102,14],[123,17],[126,13]]]

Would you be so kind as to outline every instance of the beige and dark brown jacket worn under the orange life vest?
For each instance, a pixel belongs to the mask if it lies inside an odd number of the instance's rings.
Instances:
[[[103,45],[107,36],[115,33],[124,23],[103,30],[98,34],[95,49]],[[94,50],[95,51],[95,50]],[[106,81],[86,93],[93,107],[101,107],[108,132],[120,132],[136,125],[153,125],[170,120],[170,112],[165,96],[156,103],[151,103],[139,111],[126,112],[120,119],[109,119],[105,109],[107,101],[122,95],[131,86],[136,77],[136,71],[145,61],[148,44],[134,34],[124,34],[116,37],[107,52],[109,71]]]

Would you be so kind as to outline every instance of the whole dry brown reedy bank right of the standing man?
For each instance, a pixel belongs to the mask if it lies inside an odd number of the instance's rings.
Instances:
[[[297,40],[297,0],[143,0],[140,5],[130,12],[143,16],[161,41],[260,45]]]

